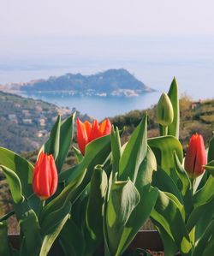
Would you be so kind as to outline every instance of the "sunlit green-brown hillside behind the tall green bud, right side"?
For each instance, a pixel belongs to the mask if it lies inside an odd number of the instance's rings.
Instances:
[[[142,112],[148,113],[148,136],[158,136],[158,125],[155,122],[155,106],[148,110],[133,110],[122,116],[110,119],[119,128],[125,127],[123,141],[133,132],[142,118]],[[193,133],[202,134],[205,142],[211,139],[214,131],[214,99],[194,102],[183,96],[180,99],[180,140],[184,149]]]

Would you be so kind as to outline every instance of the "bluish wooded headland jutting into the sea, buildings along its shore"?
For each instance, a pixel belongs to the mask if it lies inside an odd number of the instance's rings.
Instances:
[[[68,91],[74,95],[137,96],[153,90],[136,79],[126,69],[109,69],[98,74],[64,74],[51,76],[47,80],[32,80],[27,83],[11,84],[11,89],[48,92]]]

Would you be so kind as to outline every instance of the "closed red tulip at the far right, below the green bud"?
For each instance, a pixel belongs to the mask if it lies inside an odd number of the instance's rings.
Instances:
[[[199,134],[193,134],[189,140],[184,168],[187,170],[189,176],[196,178],[203,174],[205,170],[203,165],[206,163],[207,160],[203,137]]]

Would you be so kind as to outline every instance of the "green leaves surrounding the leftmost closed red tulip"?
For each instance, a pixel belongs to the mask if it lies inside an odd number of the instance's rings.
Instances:
[[[59,167],[63,164],[63,159],[66,158],[70,146],[70,141],[63,143],[64,140],[71,139],[72,136],[73,116],[70,117],[70,120],[72,121],[66,120],[61,125],[60,118],[58,118],[52,129],[51,137],[45,144],[45,150],[48,153],[53,153],[59,159]],[[65,131],[66,134],[61,134]],[[91,163],[88,162],[88,164]],[[39,199],[33,194],[32,164],[4,148],[0,148],[0,164],[9,183],[15,215],[21,227],[19,255],[47,255],[68,220],[71,209],[70,201],[74,200],[74,190],[85,176],[86,167],[83,166],[83,169],[73,172],[72,176],[69,176],[67,186],[59,186],[61,192],[58,192],[55,198],[49,199],[45,205],[42,202],[39,203]],[[2,217],[1,221],[5,222],[4,219],[9,216],[10,214]],[[3,239],[5,240],[5,238]],[[3,250],[6,252],[7,248],[5,247]]]

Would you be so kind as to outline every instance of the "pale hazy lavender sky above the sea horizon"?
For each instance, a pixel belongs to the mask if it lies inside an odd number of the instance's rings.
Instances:
[[[0,34],[214,34],[213,11],[213,0],[0,0]]]

